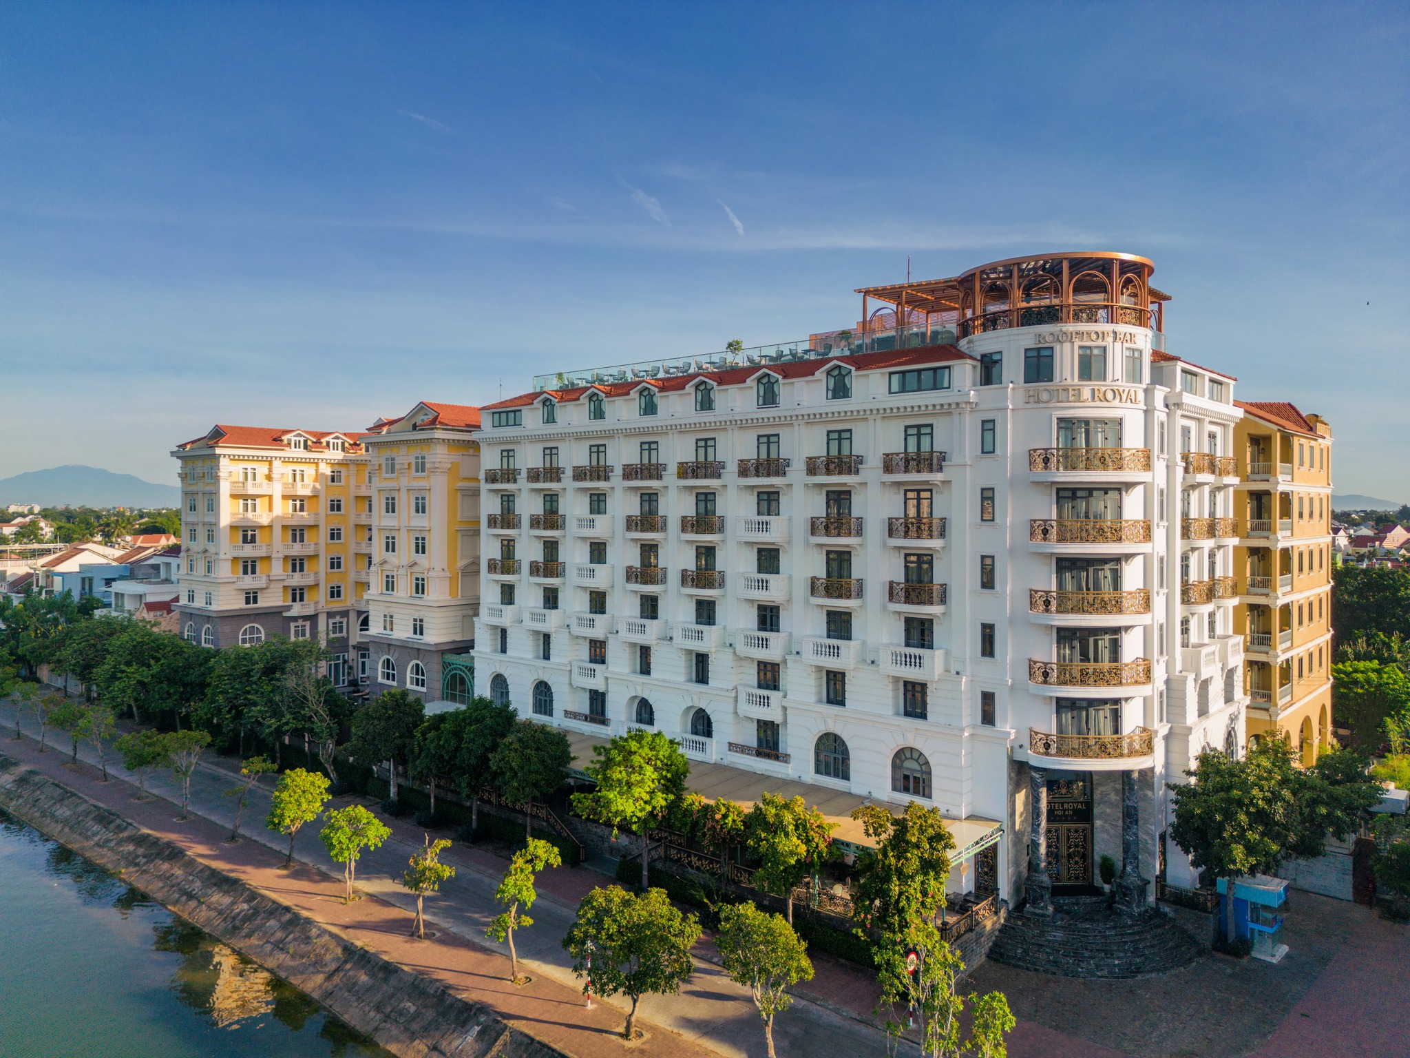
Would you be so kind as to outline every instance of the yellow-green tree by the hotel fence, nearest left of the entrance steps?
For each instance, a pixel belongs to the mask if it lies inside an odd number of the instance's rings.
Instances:
[[[852,914],[857,923],[893,937],[909,923],[935,918],[945,903],[955,838],[938,808],[909,801],[901,815],[877,804],[852,813],[876,848],[857,855]]]

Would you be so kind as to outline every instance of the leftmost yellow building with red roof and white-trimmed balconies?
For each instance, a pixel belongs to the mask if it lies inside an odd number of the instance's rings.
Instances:
[[[176,446],[180,632],[204,646],[317,636],[347,683],[357,609],[354,526],[371,515],[362,434],[217,425]]]

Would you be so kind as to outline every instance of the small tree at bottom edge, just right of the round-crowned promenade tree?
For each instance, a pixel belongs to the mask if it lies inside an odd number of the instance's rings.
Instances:
[[[768,1058],[774,1058],[774,1017],[792,1004],[788,987],[812,980],[808,945],[781,916],[760,911],[753,904],[729,904],[719,913],[721,963],[736,985],[754,997],[764,1021]]]

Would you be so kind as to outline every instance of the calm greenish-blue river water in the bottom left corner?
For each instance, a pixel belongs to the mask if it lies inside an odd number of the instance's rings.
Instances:
[[[298,989],[0,813],[4,1058],[392,1058]]]

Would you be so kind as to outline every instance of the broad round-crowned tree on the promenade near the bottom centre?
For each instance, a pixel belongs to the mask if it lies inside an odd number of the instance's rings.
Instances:
[[[673,995],[691,976],[691,948],[701,938],[699,920],[682,916],[663,889],[639,896],[620,886],[594,889],[578,904],[578,917],[563,947],[584,992],[625,995],[632,1000],[622,1038],[636,1038],[642,996]]]

